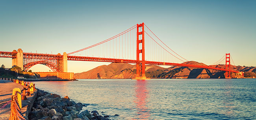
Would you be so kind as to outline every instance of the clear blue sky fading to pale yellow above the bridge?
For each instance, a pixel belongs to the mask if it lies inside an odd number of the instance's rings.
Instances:
[[[70,53],[142,22],[188,60],[209,65],[231,53],[236,65],[256,66],[256,0],[1,0],[0,51]],[[68,71],[102,64],[69,61]]]

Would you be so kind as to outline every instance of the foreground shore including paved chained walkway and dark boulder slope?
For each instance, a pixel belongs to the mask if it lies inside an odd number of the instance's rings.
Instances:
[[[108,115],[83,110],[85,105],[70,101],[68,96],[61,98],[36,89],[33,83],[6,78],[0,85],[0,120],[110,120]],[[14,87],[18,91],[13,91]]]

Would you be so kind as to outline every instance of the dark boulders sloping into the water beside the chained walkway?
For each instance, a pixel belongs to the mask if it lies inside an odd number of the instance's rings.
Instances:
[[[70,101],[68,96],[61,98],[40,89],[37,91],[29,120],[110,120],[108,115],[101,116],[98,111],[82,109],[85,105]]]

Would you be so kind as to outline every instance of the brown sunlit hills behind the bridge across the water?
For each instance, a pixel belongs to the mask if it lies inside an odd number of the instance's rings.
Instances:
[[[184,64],[203,65],[195,61],[184,62]],[[225,78],[224,71],[192,68],[192,67],[179,67],[171,66],[163,68],[158,65],[145,65],[147,78]],[[210,67],[217,67],[225,69],[225,65],[210,65]],[[256,77],[256,67],[243,67],[231,65],[230,69],[245,72],[245,77]],[[86,72],[75,73],[76,79],[129,79],[135,78],[136,65],[126,63],[111,63],[109,65],[101,65]],[[232,78],[244,78],[236,73],[231,73]]]

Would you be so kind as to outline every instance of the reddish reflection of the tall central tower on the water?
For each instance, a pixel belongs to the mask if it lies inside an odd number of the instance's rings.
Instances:
[[[135,94],[134,103],[137,109],[137,116],[133,120],[147,120],[150,115],[147,107],[148,90],[146,80],[137,80]]]

